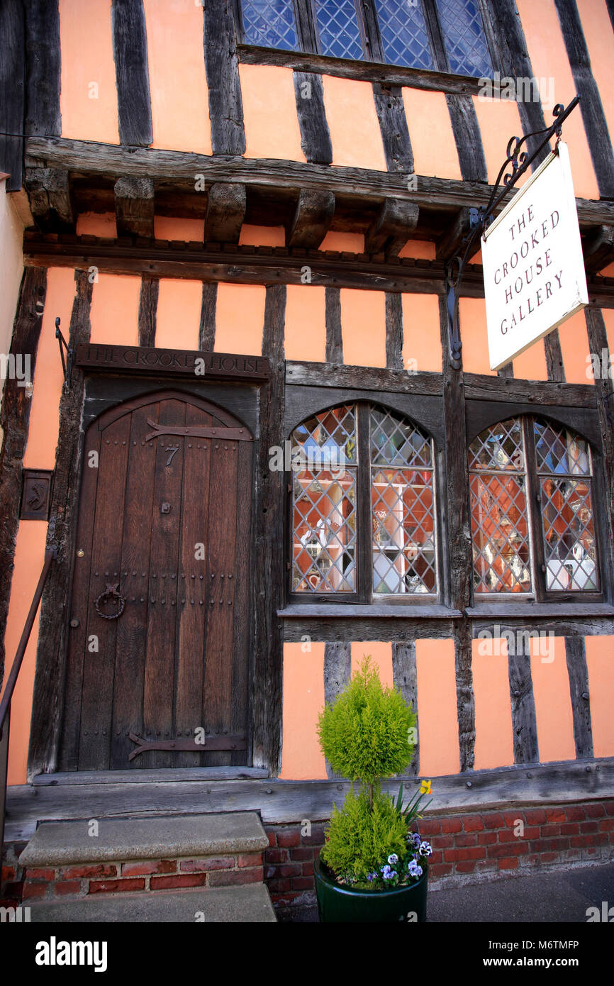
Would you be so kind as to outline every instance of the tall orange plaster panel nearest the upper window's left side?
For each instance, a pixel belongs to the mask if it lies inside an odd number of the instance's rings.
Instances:
[[[143,6],[153,147],[211,154],[202,6],[193,0],[143,0]]]

